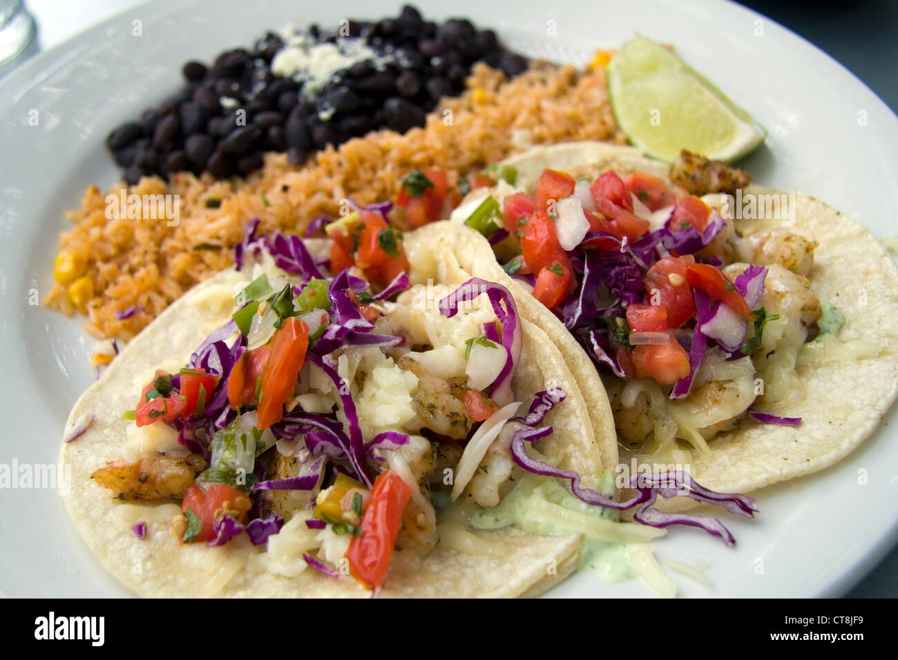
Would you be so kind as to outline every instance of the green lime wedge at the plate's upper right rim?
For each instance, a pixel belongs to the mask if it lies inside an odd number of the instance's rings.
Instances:
[[[767,135],[714,84],[645,37],[629,40],[612,57],[607,79],[621,130],[663,161],[673,161],[681,149],[735,161]]]

